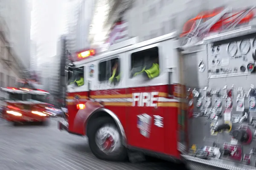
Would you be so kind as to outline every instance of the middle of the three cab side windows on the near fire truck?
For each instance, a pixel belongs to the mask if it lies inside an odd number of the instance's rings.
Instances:
[[[110,59],[99,63],[99,81],[118,84],[120,80],[119,58]]]

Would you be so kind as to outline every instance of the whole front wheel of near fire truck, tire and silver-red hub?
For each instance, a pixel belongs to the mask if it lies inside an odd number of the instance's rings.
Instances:
[[[87,134],[93,154],[103,160],[124,161],[128,158],[122,136],[110,117],[100,117],[90,122]]]

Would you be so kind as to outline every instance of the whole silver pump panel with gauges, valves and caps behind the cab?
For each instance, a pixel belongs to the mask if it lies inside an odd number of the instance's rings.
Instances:
[[[250,34],[213,42],[206,45],[206,56],[198,53],[198,81],[206,79],[208,84],[187,84],[187,99],[194,104],[188,111],[190,156],[237,168],[256,167],[255,39]],[[187,70],[186,77],[191,72]]]

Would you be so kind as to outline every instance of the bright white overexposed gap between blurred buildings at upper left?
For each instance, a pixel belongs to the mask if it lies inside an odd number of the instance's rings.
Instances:
[[[33,0],[31,39],[37,43],[38,65],[56,55],[60,32],[62,0]]]

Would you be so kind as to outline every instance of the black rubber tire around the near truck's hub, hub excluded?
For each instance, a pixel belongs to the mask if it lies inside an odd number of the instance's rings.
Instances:
[[[88,127],[89,132],[87,134],[87,137],[88,137],[89,146],[90,146],[90,149],[92,150],[92,153],[97,158],[102,159],[102,160],[107,160],[107,161],[125,161],[125,160],[127,160],[128,154],[127,154],[127,149],[125,148],[124,145],[121,146],[118,153],[114,153],[112,155],[104,153],[97,146],[97,144],[95,142],[96,132],[99,130],[99,128],[101,128],[102,126],[104,126],[106,124],[113,125],[114,127],[116,127],[115,122],[110,117],[100,117],[100,118],[93,120],[93,122],[90,122],[90,127]],[[116,129],[117,129],[117,127],[116,127]],[[119,132],[119,134],[120,134],[120,132]],[[120,134],[120,138],[121,138],[121,134]],[[120,139],[120,141],[122,141],[122,140]]]

